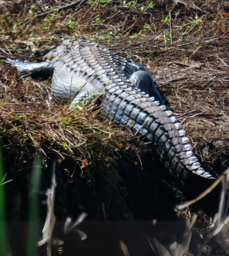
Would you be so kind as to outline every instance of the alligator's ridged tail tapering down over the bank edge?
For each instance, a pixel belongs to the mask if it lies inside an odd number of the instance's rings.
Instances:
[[[190,173],[215,179],[201,168],[173,113],[165,106],[159,106],[154,97],[126,85],[111,84],[105,89],[102,108],[116,124],[126,125],[134,134],[152,141],[157,156],[175,182],[185,184]]]

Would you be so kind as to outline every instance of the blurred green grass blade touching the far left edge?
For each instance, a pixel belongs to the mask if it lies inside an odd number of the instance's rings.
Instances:
[[[0,148],[0,255],[12,255],[8,246],[8,236],[6,232],[3,177],[3,158]]]

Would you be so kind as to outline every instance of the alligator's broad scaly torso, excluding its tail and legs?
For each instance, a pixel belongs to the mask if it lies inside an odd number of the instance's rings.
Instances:
[[[128,84],[134,72],[127,61],[88,40],[64,40],[43,58],[54,65],[52,95],[55,100],[76,104],[101,93],[111,83]]]

